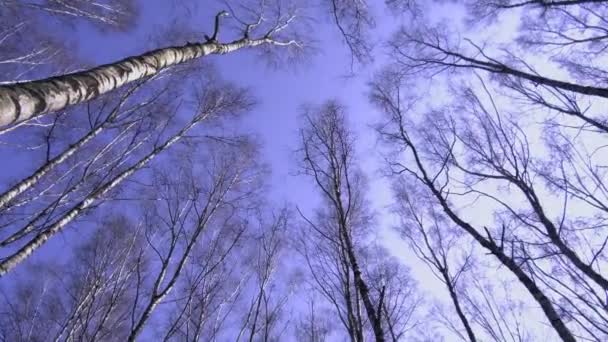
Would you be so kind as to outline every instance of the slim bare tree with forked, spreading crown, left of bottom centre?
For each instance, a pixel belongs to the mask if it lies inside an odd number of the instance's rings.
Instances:
[[[130,341],[143,331],[158,305],[169,300],[197,249],[214,255],[210,263],[197,267],[204,280],[223,264],[246,229],[240,210],[251,205],[259,184],[255,150],[243,143],[216,143],[208,150],[197,157],[206,160],[201,171],[196,170],[197,158],[192,157],[195,163],[186,164],[181,172],[165,171],[157,176],[154,188],[160,201],[150,203],[145,221],[156,267],[146,282],[150,290],[138,291],[133,299]],[[193,338],[202,332],[199,324]]]

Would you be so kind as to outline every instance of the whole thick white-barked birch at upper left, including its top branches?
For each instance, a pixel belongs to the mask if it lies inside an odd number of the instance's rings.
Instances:
[[[222,11],[215,16],[213,33],[200,42],[161,48],[76,73],[3,84],[0,86],[0,126],[15,125],[41,114],[90,101],[131,82],[156,75],[166,68],[201,57],[264,45],[301,46],[298,41],[288,38],[289,30],[297,19],[296,13],[279,10],[276,20],[268,22],[265,17],[268,10],[265,5],[257,9],[257,19],[242,22],[240,37],[232,41],[221,41],[221,21],[230,16],[229,12]]]

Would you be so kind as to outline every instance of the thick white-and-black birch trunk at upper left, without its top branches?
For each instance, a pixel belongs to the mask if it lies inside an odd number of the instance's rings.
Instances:
[[[230,43],[210,40],[153,50],[139,56],[72,74],[0,86],[0,127],[89,101],[163,69],[208,55],[276,43],[270,37]]]

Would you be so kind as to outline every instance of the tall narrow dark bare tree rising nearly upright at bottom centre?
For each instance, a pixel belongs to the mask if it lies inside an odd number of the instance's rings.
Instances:
[[[373,301],[372,288],[364,279],[363,266],[357,256],[356,244],[363,238],[370,220],[365,208],[362,175],[355,164],[354,137],[344,115],[344,109],[335,102],[304,114],[306,122],[300,131],[302,172],[314,179],[327,205],[322,211],[322,220],[327,222],[308,222],[317,234],[334,245],[334,253],[343,255],[344,272],[347,277],[352,272],[354,289],[363,302],[374,337],[384,341],[382,312],[378,309],[383,295],[380,294],[377,303]]]

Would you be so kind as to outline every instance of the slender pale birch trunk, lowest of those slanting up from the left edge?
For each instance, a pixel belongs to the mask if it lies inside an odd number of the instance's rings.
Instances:
[[[4,276],[10,270],[15,268],[25,259],[27,259],[34,251],[40,248],[43,244],[45,244],[48,239],[55,236],[57,233],[61,232],[72,220],[82,214],[83,211],[88,209],[91,205],[93,205],[97,200],[99,200],[103,195],[107,194],[109,191],[118,186],[122,181],[126,178],[134,174],[136,171],[145,166],[148,162],[154,159],[158,154],[169,148],[171,145],[180,140],[184,134],[186,134],[192,127],[200,122],[200,118],[196,118],[191,121],[186,127],[181,129],[178,133],[172,136],[170,139],[165,141],[162,145],[156,147],[145,157],[140,159],[136,164],[124,170],[122,173],[115,176],[112,180],[105,183],[102,187],[88,195],[85,199],[79,202],[77,205],[72,207],[67,213],[65,213],[60,219],[55,221],[50,227],[45,229],[43,232],[39,233],[26,243],[23,247],[21,247],[18,251],[13,253],[12,255],[4,258],[2,262],[0,262],[0,277]]]

